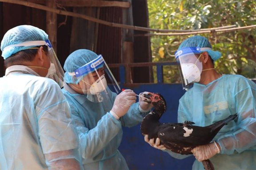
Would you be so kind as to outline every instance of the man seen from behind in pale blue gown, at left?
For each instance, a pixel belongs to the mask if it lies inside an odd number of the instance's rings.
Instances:
[[[0,78],[0,169],[83,169],[60,89],[64,71],[48,35],[20,25],[6,32],[1,50],[6,70]]]

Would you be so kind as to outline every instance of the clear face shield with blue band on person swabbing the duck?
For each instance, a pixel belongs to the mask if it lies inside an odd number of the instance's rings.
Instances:
[[[68,74],[73,76],[73,82],[78,83],[80,90],[92,102],[110,100],[108,84],[113,87],[112,91],[120,92],[120,86],[102,55]]]

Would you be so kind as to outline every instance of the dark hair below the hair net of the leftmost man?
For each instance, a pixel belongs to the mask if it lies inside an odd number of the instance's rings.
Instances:
[[[25,61],[32,61],[38,52],[40,46],[33,47],[34,49],[27,49],[19,51],[15,54],[12,54],[10,57],[4,60],[4,66],[8,68],[9,66],[13,65],[20,65],[20,63]],[[43,46],[43,50],[45,53],[48,52],[48,46]]]

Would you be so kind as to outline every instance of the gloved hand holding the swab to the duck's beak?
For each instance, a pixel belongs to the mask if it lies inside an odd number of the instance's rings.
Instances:
[[[125,89],[116,96],[110,113],[116,118],[124,116],[130,106],[136,102],[136,94],[131,89]]]

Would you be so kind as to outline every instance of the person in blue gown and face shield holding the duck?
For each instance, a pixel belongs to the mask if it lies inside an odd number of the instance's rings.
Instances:
[[[210,42],[202,36],[184,40],[175,56],[180,63],[183,87],[188,90],[180,98],[178,122],[190,120],[204,127],[238,113],[238,119],[225,125],[212,143],[192,150],[196,157],[192,169],[204,170],[201,161],[206,159],[210,159],[216,170],[255,169],[256,84],[241,75],[217,73],[214,61],[221,54],[213,51]],[[165,149],[150,142],[156,148]],[[174,158],[188,156],[164,151]]]

